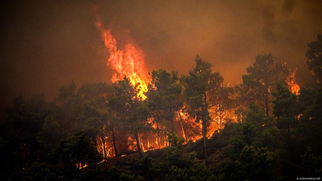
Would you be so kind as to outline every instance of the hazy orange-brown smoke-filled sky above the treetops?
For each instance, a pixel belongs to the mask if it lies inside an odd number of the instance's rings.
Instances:
[[[307,43],[322,33],[322,1],[24,1],[1,5],[0,109],[19,94],[55,97],[74,80],[110,82],[109,51],[96,29],[93,5],[119,45],[133,41],[148,71],[185,74],[199,54],[225,83],[259,53],[288,62],[300,85],[308,74]]]

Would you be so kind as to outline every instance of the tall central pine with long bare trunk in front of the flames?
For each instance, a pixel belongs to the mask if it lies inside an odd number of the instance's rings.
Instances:
[[[187,100],[187,110],[196,122],[201,122],[204,139],[205,163],[208,164],[206,135],[207,126],[211,120],[209,109],[213,106],[211,96],[223,82],[219,72],[212,72],[212,65],[203,61],[198,55],[195,58],[196,66],[182,77]]]

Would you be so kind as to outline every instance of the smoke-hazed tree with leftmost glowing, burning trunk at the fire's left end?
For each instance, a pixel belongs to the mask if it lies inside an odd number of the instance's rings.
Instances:
[[[87,135],[94,139],[98,151],[107,157],[118,155],[115,144],[115,123],[111,119],[111,111],[107,104],[108,96],[113,93],[113,87],[106,83],[86,83],[78,92],[83,103],[78,118],[79,130],[84,130]],[[112,138],[113,146],[108,146],[109,138]],[[112,152],[112,151],[114,152]]]

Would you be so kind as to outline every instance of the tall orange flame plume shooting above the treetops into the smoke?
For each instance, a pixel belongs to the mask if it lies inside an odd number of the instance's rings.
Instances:
[[[97,21],[95,25],[101,31],[104,44],[109,49],[110,56],[107,65],[116,71],[112,76],[112,82],[122,80],[124,76],[127,76],[132,85],[138,84],[138,95],[143,100],[146,99],[144,92],[147,92],[150,79],[145,68],[143,51],[131,42],[127,43],[122,50],[118,49],[117,41],[110,30],[103,28],[100,21]]]

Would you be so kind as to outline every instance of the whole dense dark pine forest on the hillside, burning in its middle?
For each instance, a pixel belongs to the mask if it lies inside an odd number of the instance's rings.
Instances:
[[[58,96],[14,99],[1,122],[1,180],[295,180],[322,175],[322,35],[311,81],[259,54],[231,87],[212,65],[74,82]]]

